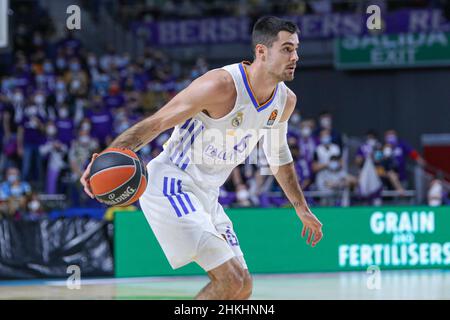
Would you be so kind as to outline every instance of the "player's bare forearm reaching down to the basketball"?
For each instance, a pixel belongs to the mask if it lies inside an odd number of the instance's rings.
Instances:
[[[147,118],[125,130],[116,139],[114,139],[110,147],[128,148],[136,152],[144,145],[151,142],[160,133],[160,123],[152,118]]]

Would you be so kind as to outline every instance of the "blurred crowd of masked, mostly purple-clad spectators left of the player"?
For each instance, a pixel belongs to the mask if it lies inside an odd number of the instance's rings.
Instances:
[[[114,48],[96,55],[71,32],[50,42],[42,28],[29,28],[15,41],[0,77],[0,212],[17,218],[45,211],[39,194],[98,206],[79,183],[92,153],[208,69],[202,58],[185,68],[152,48],[133,61]],[[144,161],[169,134],[140,150]]]

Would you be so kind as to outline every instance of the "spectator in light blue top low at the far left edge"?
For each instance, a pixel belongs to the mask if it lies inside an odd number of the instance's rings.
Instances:
[[[26,209],[27,198],[31,194],[30,184],[20,179],[19,169],[10,167],[6,171],[6,181],[0,184],[2,210],[9,216],[20,217]]]

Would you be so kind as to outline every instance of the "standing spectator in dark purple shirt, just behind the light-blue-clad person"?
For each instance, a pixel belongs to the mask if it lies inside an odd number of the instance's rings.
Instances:
[[[45,142],[45,119],[34,105],[28,106],[24,114],[17,129],[17,151],[22,157],[22,179],[36,182],[41,180],[39,146]]]

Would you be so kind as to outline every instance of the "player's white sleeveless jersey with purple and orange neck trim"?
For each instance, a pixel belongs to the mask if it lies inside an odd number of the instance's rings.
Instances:
[[[222,67],[231,74],[236,103],[231,112],[212,119],[203,112],[174,128],[162,157],[185,171],[199,185],[217,188],[245,161],[267,129],[276,125],[286,104],[287,87],[278,83],[271,98],[259,104],[248,79],[246,65]]]

